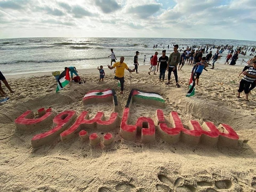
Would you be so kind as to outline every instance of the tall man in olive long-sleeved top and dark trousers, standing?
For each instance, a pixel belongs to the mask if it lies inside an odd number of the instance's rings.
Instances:
[[[180,85],[178,84],[178,74],[177,74],[177,66],[180,61],[180,53],[178,52],[178,48],[179,48],[179,45],[174,45],[173,47],[174,52],[170,54],[170,57],[167,63],[167,69],[166,69],[168,71],[168,82],[166,84],[167,85],[170,84],[171,74],[173,72],[175,76],[176,86],[180,87]]]

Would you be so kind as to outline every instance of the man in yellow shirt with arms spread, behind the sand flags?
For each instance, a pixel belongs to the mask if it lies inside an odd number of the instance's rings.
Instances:
[[[121,84],[121,94],[123,94],[124,91],[124,69],[127,69],[129,72],[134,72],[134,69],[129,69],[126,63],[124,63],[124,57],[120,57],[120,61],[114,63],[112,67],[108,65],[109,69],[116,68],[116,74],[115,79],[120,81]]]

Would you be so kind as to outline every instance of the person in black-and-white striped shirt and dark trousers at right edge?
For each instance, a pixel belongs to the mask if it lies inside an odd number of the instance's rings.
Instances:
[[[256,61],[254,61],[252,67],[250,67],[248,71],[244,71],[243,74],[244,77],[241,79],[239,89],[237,90],[237,98],[240,98],[240,93],[244,91],[246,97],[245,100],[249,101],[248,95],[250,92],[250,85],[256,80]]]

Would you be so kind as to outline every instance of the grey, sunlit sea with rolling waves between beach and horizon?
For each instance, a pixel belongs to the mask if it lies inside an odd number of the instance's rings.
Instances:
[[[153,45],[158,44],[153,49]],[[162,44],[160,46],[160,44]],[[170,45],[169,49],[167,48]],[[104,68],[110,64],[110,49],[114,49],[117,60],[124,56],[124,62],[133,66],[133,57],[136,51],[140,52],[138,62],[143,64],[146,55],[146,64],[149,64],[151,55],[156,51],[159,57],[163,48],[166,55],[173,52],[173,44],[179,44],[179,49],[187,45],[204,47],[207,44],[234,45],[256,47],[256,41],[231,40],[231,39],[182,39],[182,38],[70,38],[70,37],[36,37],[0,39],[0,71],[4,75],[16,75],[31,72],[62,71],[65,67],[74,66],[77,69]],[[183,49],[182,49],[183,51]],[[210,51],[210,47],[209,50]],[[212,49],[212,53],[216,48]],[[246,64],[243,60],[252,58],[251,51],[246,56],[239,54],[237,65]],[[255,53],[253,53],[254,55]],[[206,54],[204,54],[205,56]],[[222,53],[220,60],[225,63],[227,51]]]

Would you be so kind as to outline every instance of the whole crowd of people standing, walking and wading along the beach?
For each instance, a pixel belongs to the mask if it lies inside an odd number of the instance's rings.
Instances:
[[[153,49],[157,48],[158,44],[154,44]],[[162,44],[160,44],[162,46]],[[182,46],[182,48],[181,48]],[[179,45],[175,44],[173,45],[173,52],[169,55],[169,57],[166,55],[166,50],[164,50],[164,45],[163,50],[162,50],[162,56],[159,58],[158,52],[156,51],[154,55],[150,57],[150,64],[151,67],[149,68],[148,75],[151,75],[153,72],[154,75],[156,75],[156,72],[159,72],[159,82],[164,82],[165,80],[165,72],[168,71],[168,81],[165,83],[166,85],[170,84],[171,80],[171,74],[173,73],[175,77],[175,83],[176,86],[179,88],[180,84],[178,83],[178,70],[182,70],[182,67],[184,66],[185,63],[188,65],[193,66],[193,73],[195,76],[195,81],[196,84],[198,85],[199,82],[199,77],[202,74],[203,70],[206,70],[206,67],[209,65],[212,66],[211,69],[214,69],[215,62],[222,57],[221,53],[223,53],[224,50],[228,51],[228,54],[226,56],[226,62],[224,64],[229,64],[229,65],[235,65],[236,60],[238,59],[238,55],[246,55],[247,52],[251,52],[250,56],[253,56],[255,52],[255,47],[248,47],[248,46],[237,46],[234,48],[233,45],[202,45],[202,46],[188,46],[181,45],[179,49]],[[169,49],[170,45],[168,44],[167,48]],[[196,49],[197,48],[197,49]],[[216,53],[212,54],[213,49],[217,49]],[[183,51],[182,51],[183,50]],[[139,51],[136,51],[134,59],[133,59],[133,65],[134,68],[130,69],[128,68],[127,64],[124,62],[124,57],[120,57],[120,61],[116,61],[116,55],[113,51],[113,49],[110,50],[111,54],[108,57],[111,57],[111,62],[110,65],[108,65],[109,69],[115,68],[115,76],[114,79],[119,80],[120,85],[121,85],[121,94],[123,94],[124,91],[124,69],[128,70],[130,73],[131,72],[138,72],[138,56],[140,54]],[[209,52],[208,52],[209,51]],[[181,53],[182,52],[182,53]],[[234,54],[233,54],[234,53]],[[203,57],[203,54],[206,54],[206,56]],[[228,62],[229,60],[230,63]],[[210,64],[210,61],[212,63]],[[244,61],[244,60],[243,60]],[[143,63],[145,64],[146,62],[146,55],[144,55]],[[114,63],[114,64],[113,64]],[[113,64],[113,65],[112,65]],[[69,69],[69,72],[71,74],[71,79],[75,82],[80,82],[81,79],[77,73],[77,70],[75,67],[66,67],[65,70],[62,72],[63,75],[66,73],[66,70]],[[97,68],[100,72],[100,78],[99,81],[103,81],[105,77],[105,71],[103,69],[103,66],[101,65],[100,67],[98,66]],[[73,78],[73,74],[76,75],[76,77]],[[243,78],[240,81],[239,84],[239,89],[237,90],[237,98],[240,98],[240,93],[244,91],[245,96],[246,96],[246,101],[248,101],[248,95],[249,92],[255,88],[256,86],[256,56],[251,58],[250,60],[247,61],[247,65],[244,67],[242,72],[239,74],[239,76],[243,74]],[[62,75],[62,76],[63,76]],[[61,76],[61,75],[60,75]],[[9,89],[11,93],[14,91],[11,89],[10,85],[8,84],[7,80],[5,79],[4,75],[0,71],[0,95],[1,96],[6,96],[7,93],[4,92],[1,81],[5,84],[5,86]],[[58,79],[59,81],[59,79]]]

